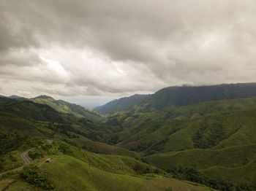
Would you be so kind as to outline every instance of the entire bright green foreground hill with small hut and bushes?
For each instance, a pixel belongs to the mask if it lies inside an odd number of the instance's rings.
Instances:
[[[170,174],[131,157],[97,155],[54,140],[31,152],[33,164],[0,180],[3,190],[194,190],[208,187],[170,178]],[[51,163],[45,160],[51,157]]]

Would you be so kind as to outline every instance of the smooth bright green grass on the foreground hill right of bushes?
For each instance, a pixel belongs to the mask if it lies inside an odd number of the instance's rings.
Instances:
[[[53,163],[41,163],[56,185],[54,190],[209,190],[167,178],[143,179],[140,176],[112,174],[73,157],[53,156]],[[67,181],[68,180],[68,181]]]

